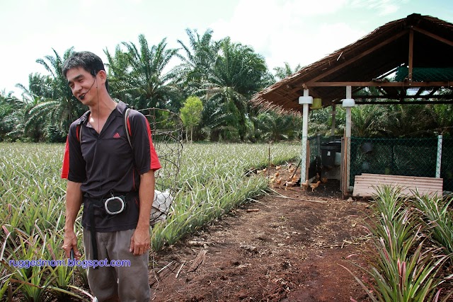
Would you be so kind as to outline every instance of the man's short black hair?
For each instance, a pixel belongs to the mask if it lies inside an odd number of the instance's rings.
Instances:
[[[79,67],[88,71],[92,76],[96,76],[96,74],[98,74],[101,70],[105,71],[102,59],[96,54],[93,54],[93,52],[73,52],[63,63],[63,76],[66,78],[66,74],[69,69]],[[108,90],[107,81],[105,81],[105,88]]]

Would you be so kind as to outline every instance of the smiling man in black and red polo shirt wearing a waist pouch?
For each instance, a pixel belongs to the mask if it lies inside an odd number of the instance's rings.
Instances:
[[[86,260],[130,261],[130,267],[88,267],[95,301],[148,302],[149,214],[154,171],[161,168],[149,123],[136,110],[125,123],[126,105],[110,97],[107,74],[96,54],[74,52],[62,72],[72,94],[89,108],[69,127],[64,152],[64,251],[67,257],[81,257],[74,221],[84,204]]]

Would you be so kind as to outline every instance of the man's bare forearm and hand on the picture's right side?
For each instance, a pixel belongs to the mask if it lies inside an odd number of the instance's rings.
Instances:
[[[143,255],[150,248],[149,215],[154,200],[154,170],[140,175],[139,186],[139,221],[130,239],[130,252]]]

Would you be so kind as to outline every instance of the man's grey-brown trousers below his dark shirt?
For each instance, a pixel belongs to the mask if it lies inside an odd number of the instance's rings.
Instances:
[[[134,256],[129,251],[130,238],[133,233],[134,229],[107,233],[96,232],[98,262],[91,263],[102,266],[96,267],[96,269],[93,269],[92,265],[87,267],[88,284],[91,292],[96,296],[94,301],[119,299],[121,302],[149,302],[149,250],[139,256]],[[84,248],[85,259],[93,260],[91,232],[86,228],[84,228]]]

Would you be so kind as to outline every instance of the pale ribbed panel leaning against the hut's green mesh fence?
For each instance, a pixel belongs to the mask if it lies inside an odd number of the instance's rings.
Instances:
[[[352,196],[372,197],[376,194],[376,187],[391,185],[401,187],[401,194],[413,196],[415,192],[422,195],[442,196],[442,178],[422,178],[416,176],[367,174],[355,176],[354,192]]]

